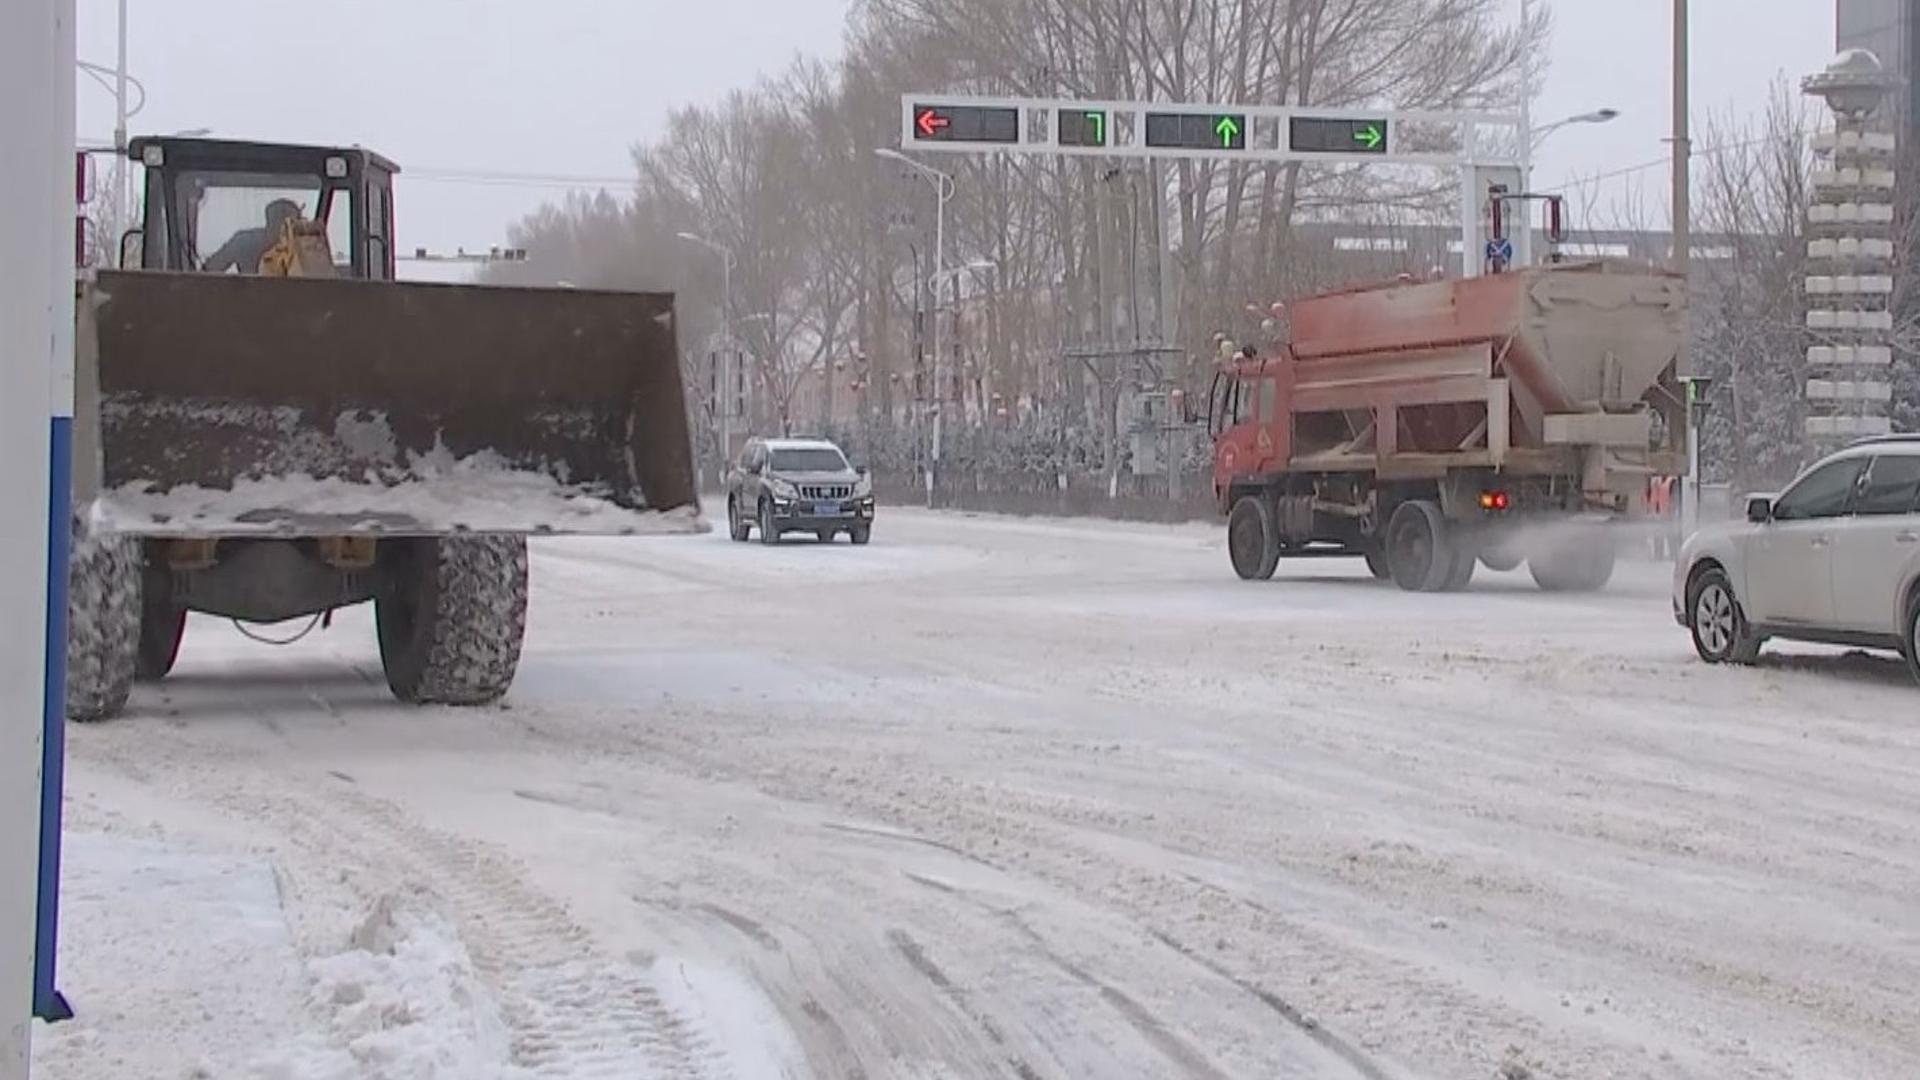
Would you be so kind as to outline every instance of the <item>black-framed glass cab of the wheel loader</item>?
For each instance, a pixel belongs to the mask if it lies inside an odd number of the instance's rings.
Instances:
[[[121,240],[121,265],[215,271],[217,256],[248,248],[286,204],[326,225],[334,273],[394,279],[397,165],[359,148],[284,146],[219,138],[134,138],[146,171],[142,223]],[[236,236],[242,244],[228,248]],[[215,273],[250,273],[221,265]]]

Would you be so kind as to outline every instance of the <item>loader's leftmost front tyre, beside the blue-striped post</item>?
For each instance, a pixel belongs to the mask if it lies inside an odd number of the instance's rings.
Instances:
[[[75,523],[67,561],[67,719],[127,707],[140,663],[140,540],[90,536]]]

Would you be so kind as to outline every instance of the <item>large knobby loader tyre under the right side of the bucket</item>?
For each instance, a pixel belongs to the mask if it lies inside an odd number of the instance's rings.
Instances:
[[[388,552],[374,623],[394,696],[411,705],[486,705],[505,696],[526,632],[526,538],[388,540]]]

